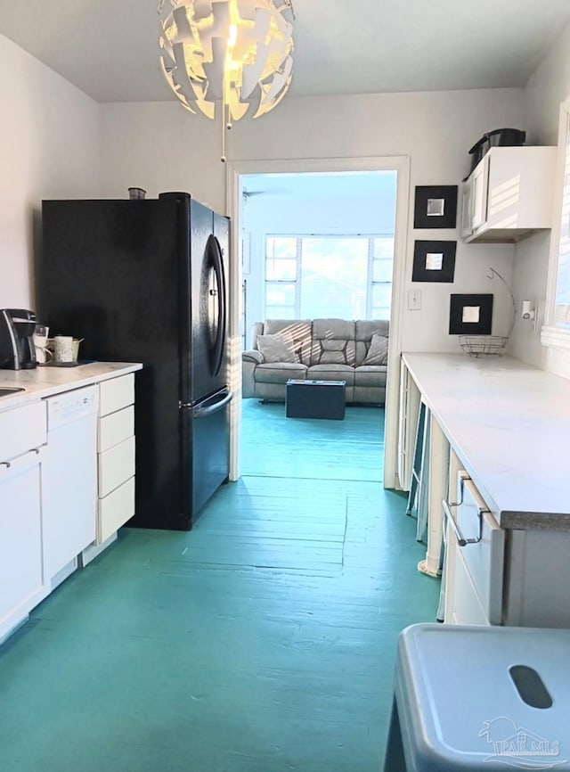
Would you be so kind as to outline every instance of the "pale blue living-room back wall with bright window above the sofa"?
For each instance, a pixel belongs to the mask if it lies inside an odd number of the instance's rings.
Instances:
[[[240,177],[242,329],[390,318],[394,170]]]

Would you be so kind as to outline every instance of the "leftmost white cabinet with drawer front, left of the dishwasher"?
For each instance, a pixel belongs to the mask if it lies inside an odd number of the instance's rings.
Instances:
[[[45,406],[37,403],[0,414],[0,438],[2,641],[46,594],[41,504]]]

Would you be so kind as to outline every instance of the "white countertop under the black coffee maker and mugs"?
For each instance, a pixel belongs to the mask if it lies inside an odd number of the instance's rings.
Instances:
[[[0,397],[0,412],[141,369],[142,365],[136,362],[90,362],[77,367],[44,365],[31,370],[0,370],[0,387],[24,389]]]

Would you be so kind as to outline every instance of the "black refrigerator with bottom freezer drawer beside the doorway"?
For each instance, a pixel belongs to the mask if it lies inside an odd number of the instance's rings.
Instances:
[[[230,221],[188,193],[43,201],[37,316],[136,373],[128,525],[190,530],[228,479]]]

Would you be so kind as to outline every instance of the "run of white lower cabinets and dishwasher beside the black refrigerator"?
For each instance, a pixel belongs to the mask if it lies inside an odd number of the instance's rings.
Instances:
[[[63,375],[0,409],[0,644],[134,514],[134,372]]]

